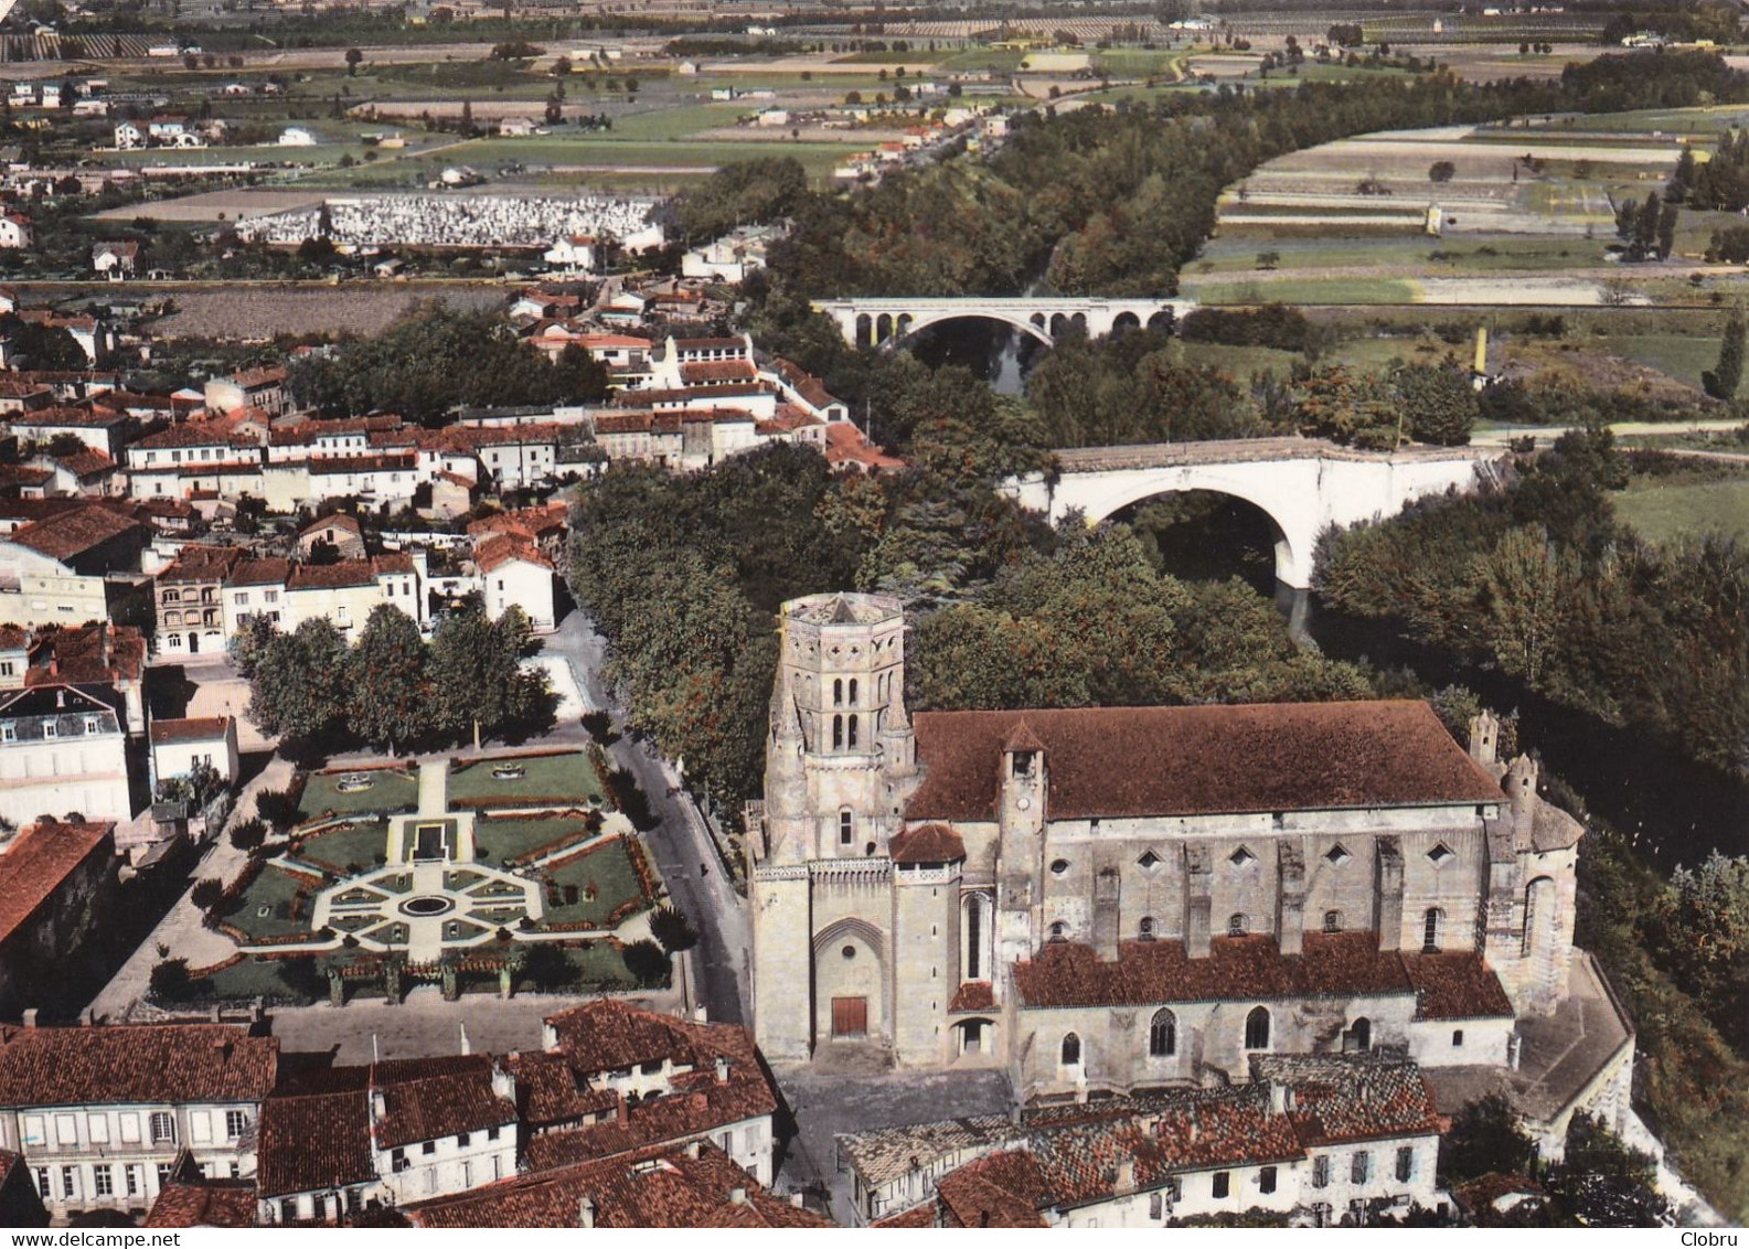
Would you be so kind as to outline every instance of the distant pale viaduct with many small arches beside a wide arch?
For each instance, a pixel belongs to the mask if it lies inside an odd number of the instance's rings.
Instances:
[[[969,296],[965,299],[815,299],[815,311],[838,322],[852,346],[897,343],[909,334],[944,320],[965,317],[997,320],[1030,334],[1046,346],[1069,331],[1100,338],[1118,329],[1172,325],[1196,306],[1195,299],[1077,299],[1041,296],[1037,299],[1002,299]]]

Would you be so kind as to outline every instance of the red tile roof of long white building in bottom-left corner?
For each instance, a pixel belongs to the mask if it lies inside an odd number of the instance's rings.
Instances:
[[[0,1106],[259,1102],[278,1057],[276,1039],[227,1023],[7,1029]]]

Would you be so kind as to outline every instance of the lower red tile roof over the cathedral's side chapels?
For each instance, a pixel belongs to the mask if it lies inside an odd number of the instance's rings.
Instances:
[[[1438,983],[1422,994],[1411,964],[1434,959],[1415,974]],[[1014,990],[1023,1006],[1147,1006],[1212,1002],[1233,997],[1261,1001],[1298,997],[1417,995],[1424,1011],[1452,1002],[1478,1016],[1511,1016],[1506,994],[1481,955],[1404,955],[1380,950],[1371,932],[1307,932],[1305,953],[1284,955],[1263,934],[1217,936],[1207,959],[1191,959],[1182,941],[1126,941],[1118,959],[1102,962],[1091,946],[1053,941],[1030,960],[1016,962]],[[1492,988],[1488,987],[1492,985]],[[1424,1018],[1446,1018],[1424,1013]]]

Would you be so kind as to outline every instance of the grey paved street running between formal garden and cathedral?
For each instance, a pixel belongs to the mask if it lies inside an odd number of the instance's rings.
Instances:
[[[602,658],[607,642],[582,611],[574,611],[556,633],[546,638],[546,652],[565,658],[591,707],[616,710],[602,679]],[[701,983],[693,985],[712,1020],[747,1022],[747,971],[752,959],[752,929],[747,906],[735,892],[717,850],[705,829],[703,817],[684,792],[675,789],[675,777],[666,764],[644,745],[621,738],[607,749],[609,757],[631,771],[633,780],[649,796],[651,812],[659,824],[644,834],[651,855],[673,896],[698,929],[698,948],[693,967]],[[700,875],[700,864],[705,873]]]

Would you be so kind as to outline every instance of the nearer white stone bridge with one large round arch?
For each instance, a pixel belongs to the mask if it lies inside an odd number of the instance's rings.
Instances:
[[[1322,439],[1093,446],[1058,451],[1062,474],[1011,478],[1004,490],[1053,521],[1079,509],[1090,525],[1154,495],[1209,490],[1254,504],[1275,528],[1275,579],[1312,584],[1312,548],[1329,525],[1394,516],[1403,504],[1469,490],[1495,471],[1499,448],[1357,451]]]

